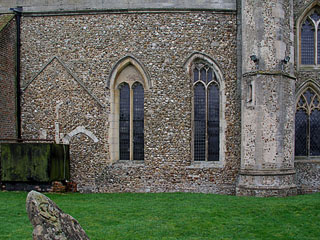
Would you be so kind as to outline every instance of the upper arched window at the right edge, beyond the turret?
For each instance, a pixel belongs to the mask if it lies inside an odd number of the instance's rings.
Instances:
[[[315,7],[304,18],[300,28],[300,63],[320,65],[320,8]]]

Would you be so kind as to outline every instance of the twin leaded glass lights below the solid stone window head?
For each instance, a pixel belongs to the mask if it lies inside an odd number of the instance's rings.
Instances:
[[[119,89],[120,160],[144,160],[144,89],[123,82]]]

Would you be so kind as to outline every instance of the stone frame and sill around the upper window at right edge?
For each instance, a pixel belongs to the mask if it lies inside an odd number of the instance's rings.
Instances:
[[[308,5],[300,14],[299,18],[296,21],[296,65],[298,71],[320,71],[320,64],[315,65],[302,65],[301,58],[300,58],[300,51],[301,51],[301,27],[306,18],[310,15],[312,10],[315,7],[320,7],[320,2],[314,1],[310,5]],[[316,42],[316,38],[315,38]],[[316,49],[315,49],[316,51]]]

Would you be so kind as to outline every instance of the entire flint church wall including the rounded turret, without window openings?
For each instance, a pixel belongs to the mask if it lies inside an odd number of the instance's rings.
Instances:
[[[319,191],[320,160],[294,157],[297,95],[308,83],[320,86],[317,66],[299,65],[297,29],[319,1],[2,2],[0,12],[24,7],[23,138],[70,143],[71,180],[81,192]],[[185,65],[194,56],[210,59],[221,73],[217,163],[192,157],[193,92]],[[113,155],[110,79],[130,61],[148,83],[143,162]]]

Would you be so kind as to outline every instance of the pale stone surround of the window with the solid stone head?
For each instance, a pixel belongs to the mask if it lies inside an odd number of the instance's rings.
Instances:
[[[119,160],[119,91],[118,86],[123,81],[118,81],[118,76],[127,66],[132,65],[142,77],[141,84],[144,91],[150,89],[152,83],[144,66],[133,56],[128,55],[120,59],[112,68],[107,81],[107,88],[110,90],[110,115],[109,115],[109,152],[111,162],[123,164],[141,164],[143,161]],[[130,89],[133,82],[129,83]],[[131,89],[132,90],[132,89]],[[131,91],[130,90],[130,91]]]

